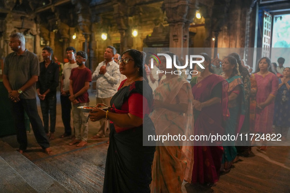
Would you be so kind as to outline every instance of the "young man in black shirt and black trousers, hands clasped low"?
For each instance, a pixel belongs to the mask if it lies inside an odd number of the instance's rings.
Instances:
[[[44,131],[51,140],[54,139],[56,122],[56,87],[59,81],[59,66],[52,60],[53,49],[46,46],[42,49],[43,62],[40,63],[40,74],[36,90],[40,100]],[[49,117],[51,129],[49,134]]]

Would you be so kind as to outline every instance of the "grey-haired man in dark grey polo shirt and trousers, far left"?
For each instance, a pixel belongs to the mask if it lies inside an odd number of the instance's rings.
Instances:
[[[14,52],[5,58],[3,84],[12,103],[17,142],[20,144],[18,151],[23,153],[27,148],[24,121],[26,111],[37,143],[49,154],[52,150],[38,115],[35,98],[35,83],[39,75],[38,58],[26,49],[25,37],[22,33],[10,35],[9,46]]]

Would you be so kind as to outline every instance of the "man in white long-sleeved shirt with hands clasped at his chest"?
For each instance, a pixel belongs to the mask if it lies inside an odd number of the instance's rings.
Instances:
[[[105,61],[99,63],[95,72],[92,75],[92,80],[97,80],[97,94],[96,101],[110,106],[112,96],[117,92],[117,84],[120,79],[119,65],[113,60],[116,54],[116,48],[108,46],[105,49]],[[108,127],[108,121],[105,119],[100,120],[101,128],[92,139],[105,137],[105,130]]]

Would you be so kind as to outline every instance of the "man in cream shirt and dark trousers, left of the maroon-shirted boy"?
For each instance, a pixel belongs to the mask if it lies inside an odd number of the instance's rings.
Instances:
[[[74,47],[66,48],[66,57],[68,63],[63,65],[62,77],[60,81],[60,103],[61,103],[61,118],[64,125],[64,134],[60,137],[67,137],[72,134],[71,128],[71,109],[72,103],[70,96],[70,75],[73,68],[79,67],[76,62],[76,49]]]

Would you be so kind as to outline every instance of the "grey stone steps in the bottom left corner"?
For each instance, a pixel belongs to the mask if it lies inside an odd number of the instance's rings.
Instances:
[[[0,192],[64,192],[63,185],[0,140]]]

